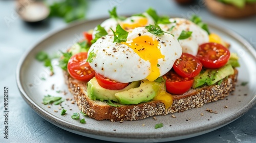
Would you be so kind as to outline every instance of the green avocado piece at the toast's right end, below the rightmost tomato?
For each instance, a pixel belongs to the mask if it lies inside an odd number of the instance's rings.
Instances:
[[[193,88],[197,88],[204,84],[212,85],[234,74],[231,64],[226,64],[218,69],[203,69],[199,75],[194,78]]]

